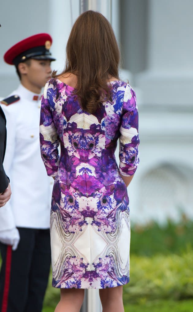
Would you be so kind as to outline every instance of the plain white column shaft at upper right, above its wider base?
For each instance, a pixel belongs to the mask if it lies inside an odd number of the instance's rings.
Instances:
[[[192,9],[192,0],[150,0],[149,70],[193,71]]]

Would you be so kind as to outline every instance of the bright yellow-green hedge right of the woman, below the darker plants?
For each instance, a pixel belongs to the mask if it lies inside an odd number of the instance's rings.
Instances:
[[[130,282],[123,287],[124,303],[154,299],[193,299],[192,259],[192,249],[181,256],[131,256]]]

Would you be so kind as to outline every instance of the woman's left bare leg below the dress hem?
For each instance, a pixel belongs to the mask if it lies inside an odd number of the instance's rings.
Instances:
[[[54,312],[80,312],[84,289],[60,289],[60,301]]]

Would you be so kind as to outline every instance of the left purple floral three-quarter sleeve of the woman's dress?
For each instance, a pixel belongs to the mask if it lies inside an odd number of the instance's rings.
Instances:
[[[49,83],[47,82],[41,100],[40,148],[41,158],[46,167],[47,175],[55,177],[59,166],[59,136],[54,124],[52,110],[49,103],[51,99],[47,98],[48,86]]]

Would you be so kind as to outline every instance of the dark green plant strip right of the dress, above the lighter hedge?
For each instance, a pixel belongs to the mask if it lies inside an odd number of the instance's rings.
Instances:
[[[169,255],[181,254],[187,246],[193,249],[193,221],[182,216],[181,222],[175,224],[168,220],[164,227],[157,223],[147,226],[131,227],[130,253],[139,256],[152,256],[157,253]]]

